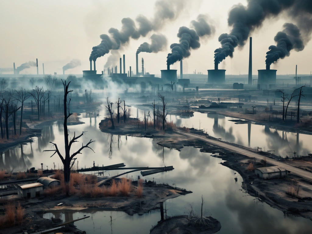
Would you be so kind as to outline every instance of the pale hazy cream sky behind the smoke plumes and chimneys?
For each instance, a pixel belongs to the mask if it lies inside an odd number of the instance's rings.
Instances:
[[[138,14],[150,18],[153,16],[155,0],[149,1],[105,1],[105,0],[0,0],[0,67],[12,67],[26,61],[38,58],[39,72],[42,73],[42,63],[45,73],[62,73],[62,66],[72,59],[80,59],[81,66],[66,71],[66,73],[82,73],[90,69],[89,56],[92,46],[100,44],[100,34],[108,34],[110,27],[120,29],[121,19],[130,17],[135,20]],[[213,69],[213,51],[220,47],[218,37],[221,33],[229,33],[227,15],[233,4],[246,0],[192,0],[186,1],[183,11],[173,22],[163,25],[159,31],[168,39],[165,51],[140,53],[144,57],[145,69],[152,74],[159,74],[166,69],[166,57],[170,52],[170,44],[178,42],[177,32],[181,26],[190,26],[190,21],[198,14],[207,14],[215,24],[216,32],[208,40],[202,40],[201,47],[191,51],[191,56],[183,60],[183,73],[200,71],[207,74],[207,69]],[[251,33],[253,39],[252,73],[265,69],[265,56],[268,46],[274,44],[274,36],[282,30],[285,22],[291,22],[287,15],[266,19],[263,26]],[[131,39],[119,53],[126,56],[126,70],[132,66],[135,71],[135,52],[143,42],[150,42],[149,37]],[[290,56],[271,66],[277,69],[277,74],[294,74],[295,64],[298,64],[299,74],[310,74],[312,42],[306,44],[300,52],[291,51]],[[110,54],[96,61],[98,73]],[[219,65],[226,69],[226,74],[248,73],[249,42],[242,48],[236,48],[234,57],[227,57]],[[119,71],[119,63],[118,71]],[[140,66],[139,66],[140,67]],[[171,66],[178,69],[179,63]],[[21,73],[36,73],[36,67],[23,70]]]

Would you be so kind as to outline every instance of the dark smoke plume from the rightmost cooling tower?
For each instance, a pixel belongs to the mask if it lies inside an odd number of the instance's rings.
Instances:
[[[278,32],[274,37],[276,46],[269,46],[269,51],[266,52],[266,64],[271,65],[278,59],[283,59],[285,56],[290,55],[290,51],[302,51],[305,46],[301,38],[299,28],[292,23],[285,23],[283,25],[284,30]]]

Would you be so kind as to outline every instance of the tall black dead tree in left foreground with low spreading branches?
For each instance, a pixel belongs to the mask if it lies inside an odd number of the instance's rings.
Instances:
[[[53,142],[50,142],[51,144],[53,144],[53,147],[55,149],[50,149],[50,150],[44,150],[44,151],[54,151],[54,153],[51,155],[51,157],[54,154],[58,154],[58,156],[61,158],[61,161],[63,163],[63,168],[64,168],[64,182],[66,184],[66,195],[68,195],[69,191],[68,191],[68,184],[70,181],[70,176],[71,176],[71,167],[73,165],[73,163],[71,164],[71,161],[74,160],[75,156],[77,156],[77,154],[81,154],[81,150],[85,149],[85,148],[89,148],[93,151],[92,148],[89,147],[89,145],[94,142],[92,141],[92,139],[86,144],[80,147],[80,149],[78,149],[75,153],[70,155],[70,150],[71,150],[71,145],[75,142],[78,142],[78,139],[84,134],[84,132],[82,132],[79,136],[76,136],[75,132],[74,132],[74,137],[68,141],[68,129],[67,129],[67,119],[72,115],[72,113],[68,112],[69,110],[69,105],[71,102],[71,99],[69,99],[69,101],[67,102],[67,95],[72,92],[73,90],[68,90],[68,86],[71,83],[70,81],[68,82],[68,84],[66,84],[66,81],[64,82],[62,80],[63,86],[64,86],[64,139],[65,139],[65,158],[61,155],[57,145]],[[68,105],[68,107],[67,107]],[[94,151],[93,151],[94,152]]]

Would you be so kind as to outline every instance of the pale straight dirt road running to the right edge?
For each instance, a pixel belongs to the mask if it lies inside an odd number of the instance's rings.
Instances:
[[[268,163],[271,163],[271,164],[276,165],[276,166],[283,167],[286,170],[290,171],[291,173],[293,173],[293,174],[295,174],[297,176],[300,176],[300,177],[303,177],[303,178],[305,178],[307,180],[312,181],[312,173],[310,173],[308,171],[305,171],[305,170],[302,170],[300,168],[296,168],[296,167],[291,166],[291,165],[289,165],[287,163],[279,162],[279,161],[274,160],[272,158],[268,158],[266,156],[254,153],[254,152],[252,152],[252,151],[250,151],[248,149],[243,149],[243,148],[240,148],[238,146],[232,145],[232,144],[224,142],[224,141],[218,141],[218,140],[206,138],[204,136],[200,136],[200,135],[192,134],[192,133],[187,133],[187,132],[183,132],[183,131],[178,131],[178,132],[180,134],[184,135],[184,136],[201,139],[201,140],[203,140],[203,141],[205,141],[205,142],[207,142],[207,143],[209,143],[211,145],[216,145],[216,146],[219,146],[221,148],[224,148],[224,149],[227,149],[227,150],[231,150],[233,152],[245,155],[245,156],[250,157],[250,158],[256,158],[256,159],[259,159],[259,160],[261,160],[263,158],[266,158],[266,161]]]

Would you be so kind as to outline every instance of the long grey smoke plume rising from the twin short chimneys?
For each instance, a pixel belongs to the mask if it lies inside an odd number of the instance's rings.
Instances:
[[[154,16],[148,19],[143,15],[139,15],[136,21],[139,28],[136,27],[135,22],[131,18],[123,18],[121,20],[121,30],[110,28],[109,33],[100,35],[101,43],[92,47],[89,60],[96,61],[97,58],[109,53],[110,50],[118,50],[120,46],[129,42],[130,38],[138,39],[145,37],[151,31],[159,30],[168,20],[174,20],[181,12],[185,0],[173,0],[167,2],[165,0],[158,0],[154,7]]]

